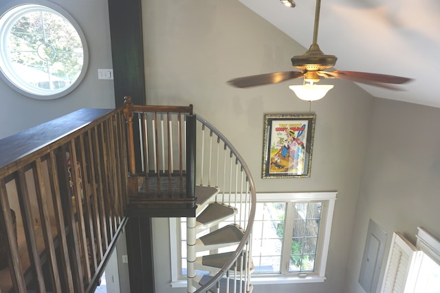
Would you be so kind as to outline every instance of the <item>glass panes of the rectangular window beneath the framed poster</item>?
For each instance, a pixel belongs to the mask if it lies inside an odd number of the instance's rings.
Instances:
[[[316,272],[323,202],[257,203],[254,274]]]

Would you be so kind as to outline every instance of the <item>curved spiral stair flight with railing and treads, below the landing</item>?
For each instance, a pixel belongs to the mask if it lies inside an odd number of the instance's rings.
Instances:
[[[187,219],[187,289],[190,293],[251,292],[256,208],[252,175],[232,143],[208,121],[195,116],[197,211],[195,218]],[[210,194],[208,189],[214,191]],[[217,220],[205,221],[207,215]],[[207,235],[197,238],[208,229]],[[197,257],[197,253],[204,255]],[[197,274],[196,268],[209,274]]]

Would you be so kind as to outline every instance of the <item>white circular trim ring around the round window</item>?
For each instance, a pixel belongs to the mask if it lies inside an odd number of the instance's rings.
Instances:
[[[39,93],[34,93],[34,92],[27,91],[25,89],[22,89],[21,86],[16,84],[15,81],[12,81],[12,80],[10,80],[10,78],[8,78],[9,74],[10,75],[17,75],[15,73],[15,71],[13,71],[12,73],[8,73],[8,74],[3,72],[3,70],[8,70],[8,71],[11,70],[11,65],[7,60],[5,62],[1,61],[2,63],[5,64],[5,68],[0,69],[1,80],[3,80],[3,82],[5,82],[5,84],[8,84],[8,86],[10,86],[10,88],[14,89],[14,91],[17,91],[21,95],[25,95],[26,97],[31,97],[33,99],[58,99],[60,97],[68,95],[69,93],[72,93],[72,91],[74,91],[78,87],[80,82],[82,82],[83,79],[85,78],[85,75],[87,73],[87,69],[89,67],[89,49],[87,46],[87,41],[86,41],[85,34],[84,34],[83,30],[81,30],[80,25],[76,22],[74,17],[71,14],[69,14],[69,12],[67,12],[66,10],[61,8],[61,6],[56,5],[55,3],[52,3],[52,2],[46,1],[46,0],[35,0],[32,2],[29,2],[26,0],[17,0],[17,1],[14,1],[13,3],[8,3],[6,5],[0,6],[0,19],[4,16],[4,14],[9,12],[10,10],[18,8],[19,6],[22,6],[22,5],[43,6],[43,7],[47,8],[48,10],[53,10],[54,14],[59,14],[63,18],[67,19],[67,21],[69,21],[69,23],[75,28],[76,32],[78,33],[78,36],[80,37],[80,40],[81,40],[81,44],[83,45],[83,67],[80,71],[80,74],[78,75],[78,78],[76,78],[76,80],[70,86],[68,86],[63,91],[59,91],[56,93],[39,94]],[[23,8],[23,9],[26,9],[26,8]],[[30,8],[28,8],[28,9],[30,9]],[[8,21],[6,21],[6,22],[8,22]],[[0,30],[0,37],[2,40],[3,40],[4,34],[5,34],[5,32],[3,30]],[[0,47],[0,50],[1,50],[1,47]],[[0,51],[0,55],[4,56],[3,51]]]

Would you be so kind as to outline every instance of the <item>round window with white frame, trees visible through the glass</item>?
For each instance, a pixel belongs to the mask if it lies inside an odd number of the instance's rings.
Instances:
[[[0,17],[0,76],[23,95],[67,95],[83,79],[88,59],[78,23],[52,3],[17,5]]]

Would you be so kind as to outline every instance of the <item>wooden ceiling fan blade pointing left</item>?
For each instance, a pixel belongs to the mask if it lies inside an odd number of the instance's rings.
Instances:
[[[251,86],[261,86],[263,84],[276,84],[278,82],[283,82],[285,80],[293,80],[294,78],[299,78],[303,76],[304,73],[300,71],[284,71],[284,72],[274,72],[265,73],[259,75],[245,76],[243,78],[234,78],[228,80],[228,84],[235,86],[237,88],[248,88]]]

